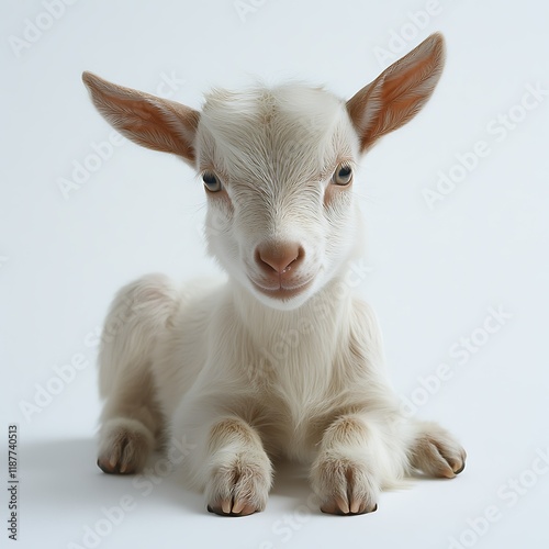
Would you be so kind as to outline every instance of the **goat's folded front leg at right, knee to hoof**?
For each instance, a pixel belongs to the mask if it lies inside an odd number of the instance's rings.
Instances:
[[[380,427],[368,414],[348,414],[325,430],[311,471],[322,512],[371,513],[382,485],[402,475],[405,452],[388,448]]]

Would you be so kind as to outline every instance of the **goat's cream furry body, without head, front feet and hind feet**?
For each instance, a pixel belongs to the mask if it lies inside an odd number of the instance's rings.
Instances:
[[[367,416],[377,434],[370,452],[380,485],[394,485],[412,471],[421,424],[402,416],[382,365],[377,320],[344,277],[302,307],[278,311],[236,282],[199,282],[178,292],[155,274],[121,290],[107,326],[117,318],[131,322],[101,349],[104,425],[109,429],[109,421],[120,417],[123,395],[135,406],[130,417],[147,417],[143,423],[157,445],[169,429],[176,444],[183,439],[198,448],[182,468],[195,488],[208,482],[203,450],[220,416],[249,423],[271,458],[306,464],[334,421]],[[117,356],[112,348],[127,351],[130,345],[138,359],[128,361],[127,352]],[[146,403],[143,383],[154,386]],[[150,421],[144,408],[160,413]]]

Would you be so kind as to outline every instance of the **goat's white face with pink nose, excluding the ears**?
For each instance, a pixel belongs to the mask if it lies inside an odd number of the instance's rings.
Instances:
[[[197,164],[209,249],[265,304],[299,306],[349,255],[358,150],[345,102],[322,89],[208,97]]]

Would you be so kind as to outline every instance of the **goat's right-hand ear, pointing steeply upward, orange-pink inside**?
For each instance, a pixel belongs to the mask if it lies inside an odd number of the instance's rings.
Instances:
[[[444,63],[444,37],[432,34],[347,101],[361,152],[417,114],[433,93]]]

